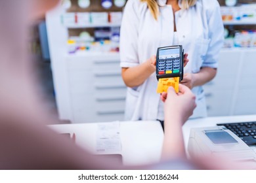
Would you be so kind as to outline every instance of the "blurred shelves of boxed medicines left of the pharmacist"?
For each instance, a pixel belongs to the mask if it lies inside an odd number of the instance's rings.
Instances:
[[[62,4],[66,11],[60,16],[61,24],[69,33],[68,54],[119,52],[119,27],[126,1],[69,2]]]

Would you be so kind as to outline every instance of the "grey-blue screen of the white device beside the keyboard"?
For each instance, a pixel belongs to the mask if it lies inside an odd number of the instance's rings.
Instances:
[[[236,139],[234,139],[229,133],[226,131],[212,131],[205,132],[205,135],[213,142],[214,144],[230,144],[237,143]]]

